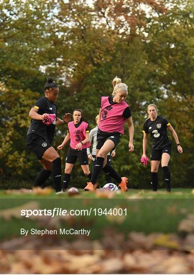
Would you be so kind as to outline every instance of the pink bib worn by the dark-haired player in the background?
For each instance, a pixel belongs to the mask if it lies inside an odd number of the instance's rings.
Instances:
[[[72,149],[75,149],[76,145],[79,142],[85,140],[87,127],[88,127],[88,123],[86,123],[84,121],[82,121],[82,123],[77,128],[74,124],[74,121],[71,121],[68,123],[68,129],[69,129],[69,133],[70,133],[70,147]],[[89,142],[82,145],[82,149],[85,149],[87,147],[90,147]]]

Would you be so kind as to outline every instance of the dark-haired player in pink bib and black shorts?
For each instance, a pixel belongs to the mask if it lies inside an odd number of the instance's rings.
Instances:
[[[88,124],[82,121],[82,111],[80,109],[74,110],[73,119],[73,121],[68,123],[68,134],[63,142],[57,147],[57,149],[61,150],[70,141],[66,168],[64,169],[63,190],[68,187],[72,169],[77,158],[79,158],[84,174],[88,176],[89,179],[91,178],[86,151],[86,148],[90,146]]]

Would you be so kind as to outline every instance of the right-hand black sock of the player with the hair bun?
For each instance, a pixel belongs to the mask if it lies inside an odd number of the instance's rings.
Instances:
[[[57,157],[52,162],[52,180],[54,182],[56,192],[61,191],[61,159]]]

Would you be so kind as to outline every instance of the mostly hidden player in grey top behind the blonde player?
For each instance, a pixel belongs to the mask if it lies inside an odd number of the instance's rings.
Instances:
[[[91,149],[91,153],[90,153],[90,148],[87,148],[87,155],[88,155],[88,159],[89,162],[91,161],[92,163],[92,171],[95,165],[95,161],[96,161],[96,138],[97,138],[97,132],[98,132],[98,125],[99,125],[99,115],[95,117],[95,121],[96,121],[96,127],[91,129],[91,131],[89,132],[89,141],[90,144],[93,143],[92,145],[92,149]],[[114,157],[116,155],[116,148],[112,151],[112,153],[108,153],[107,154],[107,163],[111,163],[111,157]],[[109,173],[105,173],[105,178],[106,178],[106,183],[110,183],[113,182],[113,180],[111,179],[111,177],[109,176]]]

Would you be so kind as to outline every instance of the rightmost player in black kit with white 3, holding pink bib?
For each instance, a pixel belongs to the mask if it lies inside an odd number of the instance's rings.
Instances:
[[[157,171],[159,162],[161,161],[161,167],[164,173],[164,182],[167,187],[167,191],[171,191],[171,176],[168,169],[168,163],[171,156],[171,143],[167,135],[167,128],[172,132],[175,142],[177,144],[177,150],[182,154],[183,150],[180,146],[177,133],[169,123],[169,121],[157,115],[157,106],[150,104],[147,107],[147,113],[149,118],[144,122],[143,125],[143,155],[146,157],[147,147],[147,135],[150,133],[152,139],[151,146],[151,184],[153,191],[157,191]]]

